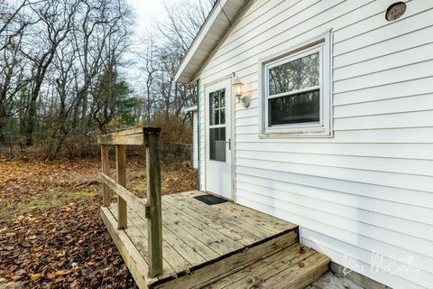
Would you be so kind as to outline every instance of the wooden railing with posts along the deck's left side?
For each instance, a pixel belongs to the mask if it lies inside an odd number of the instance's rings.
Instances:
[[[101,135],[97,139],[97,143],[101,145],[103,205],[110,205],[111,192],[114,191],[117,195],[118,229],[128,226],[127,206],[148,219],[148,263],[151,277],[162,274],[160,132],[159,127],[143,127]],[[108,145],[115,145],[116,180],[108,176]],[[146,147],[147,202],[126,190],[126,145]]]

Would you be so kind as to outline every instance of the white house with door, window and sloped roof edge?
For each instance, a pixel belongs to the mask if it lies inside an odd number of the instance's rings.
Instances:
[[[433,288],[433,1],[219,0],[176,79],[199,86],[200,190]]]

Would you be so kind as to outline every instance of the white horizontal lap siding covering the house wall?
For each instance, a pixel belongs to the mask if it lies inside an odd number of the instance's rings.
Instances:
[[[389,23],[394,2],[250,1],[198,74],[200,109],[204,85],[239,75],[251,106],[235,105],[236,201],[298,223],[302,242],[340,265],[394,288],[430,288],[433,3],[407,1]],[[334,137],[261,139],[259,61],[328,29]]]

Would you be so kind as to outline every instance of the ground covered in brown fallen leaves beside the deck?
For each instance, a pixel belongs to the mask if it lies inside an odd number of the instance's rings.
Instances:
[[[162,193],[196,189],[185,163],[161,167]],[[98,160],[0,156],[0,288],[136,287],[99,217],[99,170]],[[133,159],[128,189],[144,196],[145,188],[142,159]]]

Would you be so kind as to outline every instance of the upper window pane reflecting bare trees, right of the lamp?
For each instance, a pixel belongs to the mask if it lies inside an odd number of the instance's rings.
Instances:
[[[319,85],[318,52],[269,70],[269,95],[307,89]]]

